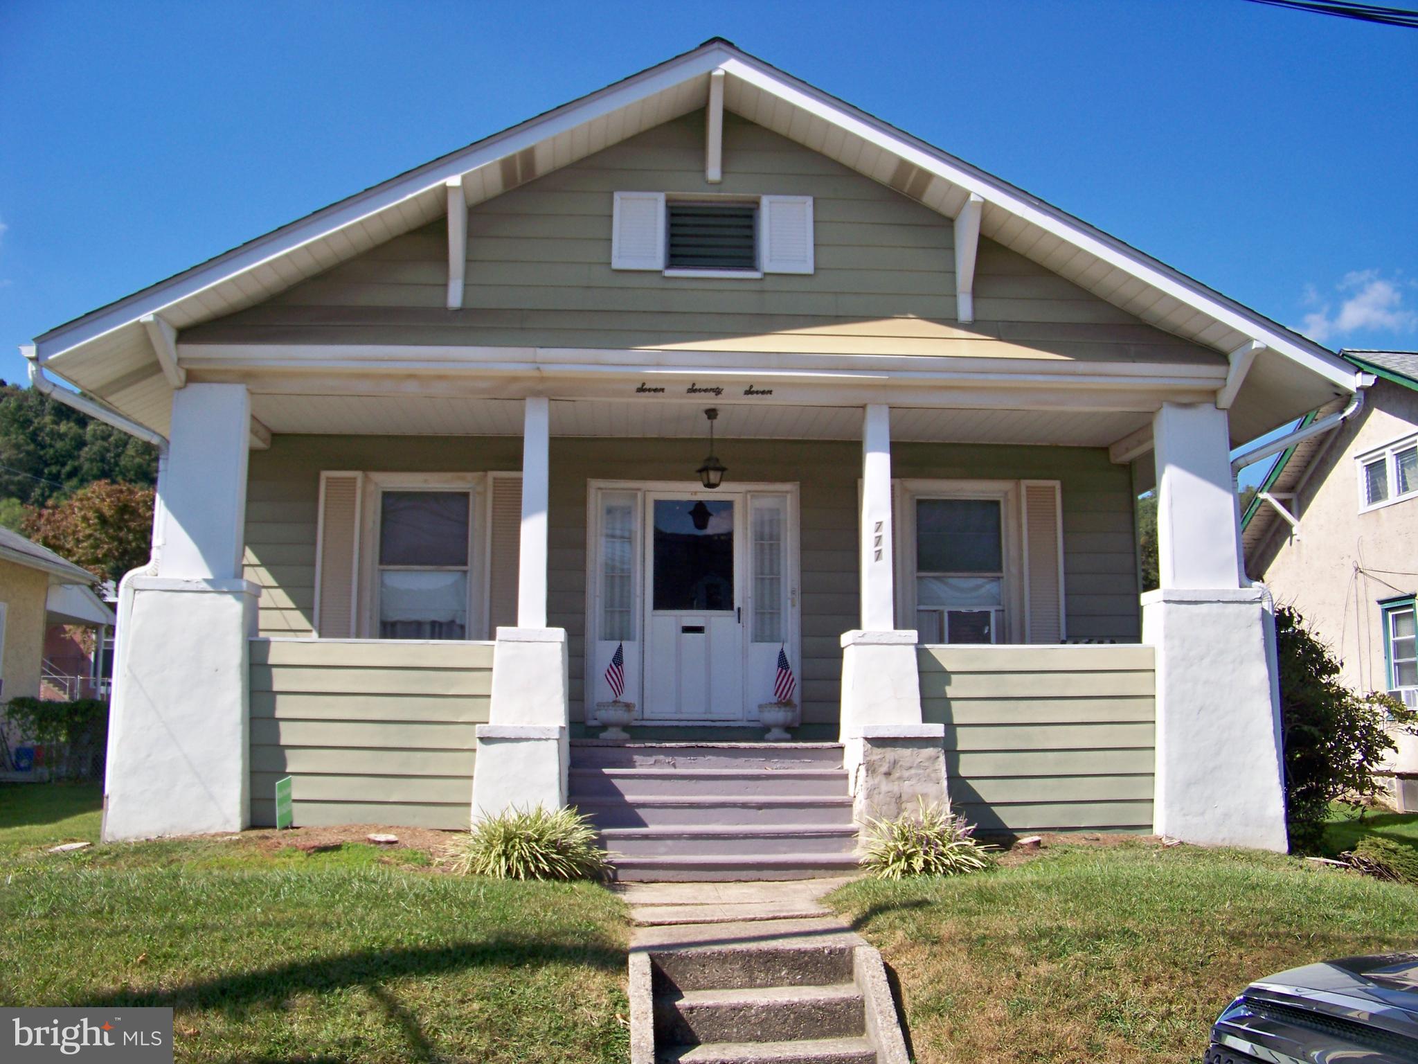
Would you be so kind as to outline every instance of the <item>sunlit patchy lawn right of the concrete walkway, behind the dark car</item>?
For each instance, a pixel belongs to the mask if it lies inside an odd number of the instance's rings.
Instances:
[[[1141,841],[830,902],[895,968],[922,1064],[1197,1061],[1252,979],[1418,942],[1411,887]]]

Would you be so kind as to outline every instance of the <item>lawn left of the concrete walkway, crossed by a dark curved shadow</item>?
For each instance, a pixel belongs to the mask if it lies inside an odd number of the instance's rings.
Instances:
[[[92,804],[0,792],[0,1004],[173,1006],[180,1061],[628,1055],[624,908],[598,885],[252,836],[45,853],[96,836]]]

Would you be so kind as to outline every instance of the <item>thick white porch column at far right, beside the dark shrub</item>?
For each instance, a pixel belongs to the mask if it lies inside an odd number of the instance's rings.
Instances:
[[[1153,419],[1161,587],[1143,596],[1157,655],[1154,830],[1202,846],[1286,850],[1275,617],[1242,586],[1227,413]]]

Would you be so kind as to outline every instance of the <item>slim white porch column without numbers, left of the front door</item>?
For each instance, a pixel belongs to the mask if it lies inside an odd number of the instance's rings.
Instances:
[[[522,539],[518,627],[498,628],[492,699],[479,725],[472,819],[566,804],[570,663],[566,628],[546,624],[550,403],[526,400],[522,431]]]

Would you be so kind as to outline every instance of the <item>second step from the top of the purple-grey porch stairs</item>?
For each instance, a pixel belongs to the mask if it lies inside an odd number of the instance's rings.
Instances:
[[[640,797],[671,794],[749,797],[841,797],[847,793],[842,769],[698,769],[698,767],[573,767],[571,804],[579,799],[621,794]]]

